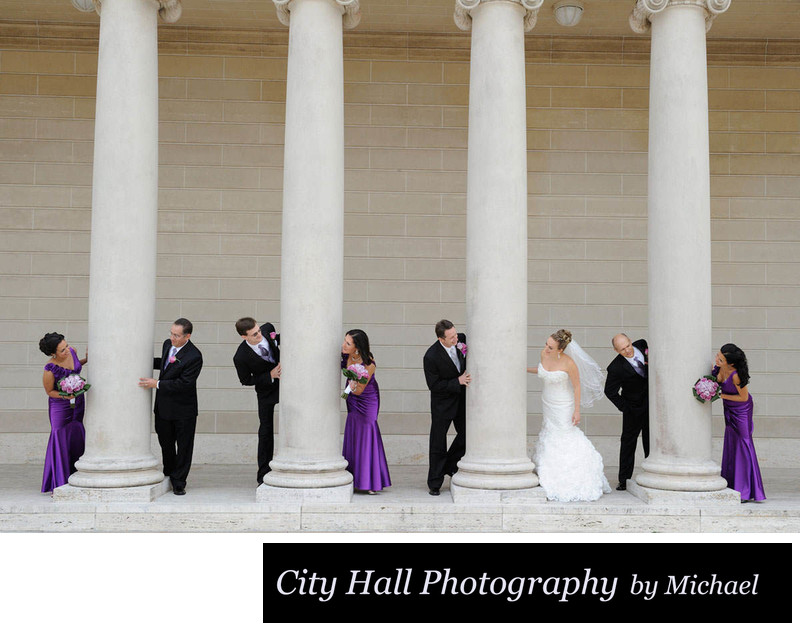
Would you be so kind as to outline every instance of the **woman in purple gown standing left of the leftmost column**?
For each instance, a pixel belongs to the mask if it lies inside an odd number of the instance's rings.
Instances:
[[[61,396],[58,382],[67,375],[80,373],[88,359],[78,359],[75,349],[67,344],[60,333],[47,333],[39,340],[39,350],[52,359],[45,365],[42,377],[44,391],[50,397],[50,440],[44,460],[42,493],[52,493],[54,488],[67,483],[70,474],[75,473],[75,463],[83,455],[86,440],[83,395]]]

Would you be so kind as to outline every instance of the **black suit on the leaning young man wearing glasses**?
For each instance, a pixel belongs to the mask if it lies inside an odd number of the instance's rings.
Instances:
[[[242,340],[236,354],[233,356],[233,365],[236,374],[243,386],[255,386],[256,399],[258,400],[258,474],[256,480],[259,484],[264,481],[264,476],[270,472],[269,463],[275,452],[274,415],[275,405],[278,403],[280,382],[270,376],[270,372],[281,360],[280,335],[276,335],[275,327],[269,322],[261,325],[261,335],[269,346],[272,354],[271,360],[265,359],[256,353],[250,345]]]

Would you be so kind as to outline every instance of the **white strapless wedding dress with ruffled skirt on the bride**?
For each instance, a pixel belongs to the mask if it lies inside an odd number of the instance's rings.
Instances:
[[[542,431],[536,445],[536,472],[548,500],[588,502],[611,493],[603,458],[579,427],[572,424],[575,394],[569,375],[539,364]]]

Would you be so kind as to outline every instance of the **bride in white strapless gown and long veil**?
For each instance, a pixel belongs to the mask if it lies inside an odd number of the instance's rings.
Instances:
[[[542,431],[534,459],[547,499],[593,501],[611,493],[603,458],[578,427],[580,405],[590,407],[603,396],[600,367],[572,340],[572,333],[560,329],[547,338],[539,365],[528,372],[544,382]]]

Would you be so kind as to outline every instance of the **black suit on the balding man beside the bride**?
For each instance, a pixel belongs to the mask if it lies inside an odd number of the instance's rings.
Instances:
[[[619,445],[619,481],[633,476],[636,440],[642,434],[645,458],[650,455],[650,423],[647,393],[647,342],[636,340],[633,346],[644,355],[644,377],[622,355],[608,365],[605,394],[622,412],[622,437]]]

